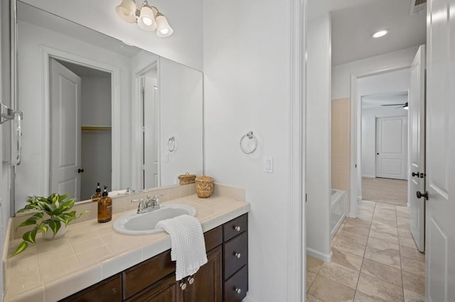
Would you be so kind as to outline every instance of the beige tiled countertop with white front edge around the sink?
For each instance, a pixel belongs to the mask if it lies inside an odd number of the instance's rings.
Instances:
[[[222,225],[250,211],[250,203],[224,196],[176,198],[166,203],[183,203],[196,208],[203,231]],[[4,301],[57,301],[96,284],[171,248],[167,233],[122,235],[109,223],[87,220],[68,225],[68,232],[57,240],[37,238],[36,245],[4,259]],[[11,225],[11,223],[10,223]],[[8,255],[21,239],[9,243]]]

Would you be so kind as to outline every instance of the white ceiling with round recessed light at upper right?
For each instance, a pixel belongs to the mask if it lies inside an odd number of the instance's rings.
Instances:
[[[426,11],[410,16],[411,0],[309,0],[308,16],[332,15],[332,65],[426,42]],[[390,30],[373,39],[376,30]]]

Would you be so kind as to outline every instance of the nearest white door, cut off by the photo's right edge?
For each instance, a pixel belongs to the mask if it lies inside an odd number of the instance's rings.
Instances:
[[[427,2],[425,297],[455,301],[455,0]],[[424,192],[421,192],[422,194]]]

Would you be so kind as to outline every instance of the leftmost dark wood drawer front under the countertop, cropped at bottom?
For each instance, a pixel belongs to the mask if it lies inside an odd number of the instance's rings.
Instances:
[[[60,301],[122,301],[122,276],[117,274]]]

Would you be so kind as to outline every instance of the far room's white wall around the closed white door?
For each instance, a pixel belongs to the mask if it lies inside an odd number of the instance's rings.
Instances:
[[[407,101],[407,100],[406,100]],[[376,117],[407,116],[394,106],[362,110],[362,176],[376,177]]]

